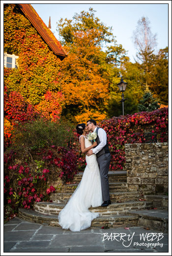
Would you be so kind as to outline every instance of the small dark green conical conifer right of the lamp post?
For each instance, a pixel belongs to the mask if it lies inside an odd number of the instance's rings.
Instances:
[[[147,111],[151,112],[155,109],[160,108],[160,105],[158,105],[158,101],[153,98],[152,93],[150,91],[145,91],[143,95],[143,99],[140,102],[141,104],[138,105],[139,112]]]

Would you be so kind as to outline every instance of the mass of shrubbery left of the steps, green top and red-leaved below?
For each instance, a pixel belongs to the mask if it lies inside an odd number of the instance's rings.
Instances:
[[[48,184],[59,178],[66,182],[77,173],[77,157],[70,148],[73,127],[67,121],[38,117],[17,122],[4,153],[4,202],[15,212],[49,200],[55,187]]]

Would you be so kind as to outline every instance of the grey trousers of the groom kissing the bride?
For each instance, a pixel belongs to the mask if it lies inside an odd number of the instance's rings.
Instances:
[[[110,153],[105,153],[97,157],[97,163],[100,169],[103,201],[110,200],[109,180],[108,180],[108,171],[109,171],[110,162],[111,162]]]

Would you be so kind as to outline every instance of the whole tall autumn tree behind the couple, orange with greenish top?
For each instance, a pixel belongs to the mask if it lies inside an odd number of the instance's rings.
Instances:
[[[126,51],[117,45],[112,27],[94,15],[94,10],[75,14],[73,20],[61,19],[57,31],[68,52],[62,62],[62,90],[65,108],[62,115],[73,123],[108,117],[107,106],[114,77]],[[103,51],[103,47],[106,46]]]

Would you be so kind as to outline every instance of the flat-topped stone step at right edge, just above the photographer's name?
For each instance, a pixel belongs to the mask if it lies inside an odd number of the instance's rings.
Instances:
[[[139,216],[138,226],[167,232],[169,229],[169,219],[167,210],[141,210],[126,212],[128,215]]]

